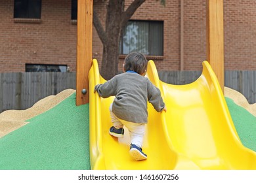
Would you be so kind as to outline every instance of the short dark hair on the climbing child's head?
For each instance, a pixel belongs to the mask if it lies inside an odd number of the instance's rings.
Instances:
[[[135,71],[139,75],[146,73],[148,61],[143,54],[139,52],[132,52],[125,58],[123,68],[126,71]]]

